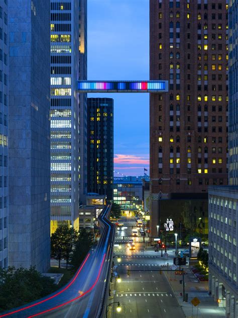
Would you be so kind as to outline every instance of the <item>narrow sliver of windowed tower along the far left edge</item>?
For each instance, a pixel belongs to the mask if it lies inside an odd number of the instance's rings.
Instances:
[[[0,7],[0,268],[8,266],[8,6],[2,2]]]

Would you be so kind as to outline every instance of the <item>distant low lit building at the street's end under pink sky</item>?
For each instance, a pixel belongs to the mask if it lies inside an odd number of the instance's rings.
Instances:
[[[122,211],[143,209],[144,177],[114,177],[113,202],[121,206]]]

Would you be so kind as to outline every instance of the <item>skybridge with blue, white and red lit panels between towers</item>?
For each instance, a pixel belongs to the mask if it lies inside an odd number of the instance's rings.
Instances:
[[[168,81],[78,81],[79,93],[163,93]]]

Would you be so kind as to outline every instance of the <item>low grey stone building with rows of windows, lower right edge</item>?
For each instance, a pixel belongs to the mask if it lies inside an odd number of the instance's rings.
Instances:
[[[237,317],[238,186],[209,187],[209,290],[226,317]]]

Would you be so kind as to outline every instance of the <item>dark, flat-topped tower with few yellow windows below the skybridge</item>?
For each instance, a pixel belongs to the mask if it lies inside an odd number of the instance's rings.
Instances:
[[[113,193],[113,99],[88,98],[88,192]]]

